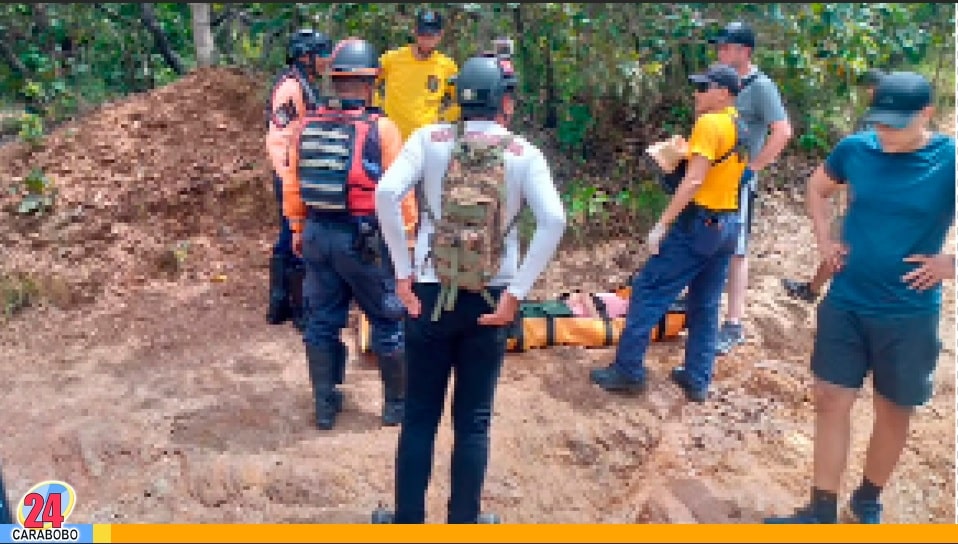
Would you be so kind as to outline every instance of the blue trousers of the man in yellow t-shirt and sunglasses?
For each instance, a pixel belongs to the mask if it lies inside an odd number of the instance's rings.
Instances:
[[[645,352],[652,328],[688,287],[685,369],[690,385],[708,387],[715,365],[719,306],[740,221],[732,213],[687,208],[669,229],[632,281],[632,296],[619,338],[615,366],[626,376],[645,379]]]

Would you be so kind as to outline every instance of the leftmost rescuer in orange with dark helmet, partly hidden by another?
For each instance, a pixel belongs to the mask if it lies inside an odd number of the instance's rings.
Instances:
[[[303,263],[292,250],[292,231],[283,216],[282,180],[275,165],[284,153],[284,142],[292,130],[293,119],[302,117],[318,100],[313,88],[326,71],[332,41],[323,33],[303,29],[293,34],[286,49],[286,68],[272,86],[267,107],[267,151],[273,169],[273,192],[279,215],[279,235],[273,245],[269,266],[269,308],[266,321],[279,325],[292,320],[302,329],[301,293]]]

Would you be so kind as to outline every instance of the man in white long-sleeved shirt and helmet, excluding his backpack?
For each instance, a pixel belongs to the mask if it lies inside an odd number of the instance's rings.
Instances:
[[[565,210],[542,152],[505,127],[515,109],[516,79],[507,58],[483,54],[470,58],[455,80],[456,100],[467,140],[511,137],[504,153],[505,217],[514,219],[522,201],[536,218],[536,231],[519,264],[518,229],[505,238],[499,270],[488,282],[489,299],[459,289],[452,310],[434,316],[441,303],[431,234],[442,215],[446,178],[457,126],[434,124],[413,132],[376,188],[376,213],[396,271],[397,295],[406,307],[406,412],[396,454],[395,513],[377,510],[374,523],[425,523],[426,490],[433,445],[455,372],[452,421],[451,497],[448,523],[498,523],[480,514],[489,457],[493,398],[506,349],[507,328],[519,301],[532,288],[558,248],[565,231]],[[420,186],[420,229],[415,266],[410,263],[400,203]],[[514,226],[514,224],[513,224]],[[445,291],[443,291],[445,292]],[[446,293],[448,295],[448,293]],[[495,303],[495,307],[490,306]],[[431,317],[432,316],[432,317]]]

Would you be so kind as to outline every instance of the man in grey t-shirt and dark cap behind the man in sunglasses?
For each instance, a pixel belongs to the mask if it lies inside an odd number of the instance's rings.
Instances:
[[[716,343],[716,350],[724,355],[745,340],[742,319],[745,317],[745,290],[748,285],[748,237],[752,230],[758,175],[775,162],[785,149],[792,137],[792,125],[778,87],[752,64],[755,33],[751,27],[738,21],[729,23],[717,36],[710,38],[709,43],[716,45],[719,62],[735,68],[741,78],[742,91],[735,108],[745,125],[743,139],[749,155],[739,198],[742,228],[735,255],[729,265],[728,311]]]

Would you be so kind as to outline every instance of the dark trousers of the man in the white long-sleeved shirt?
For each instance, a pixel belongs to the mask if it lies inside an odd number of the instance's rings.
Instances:
[[[452,312],[431,321],[437,284],[417,284],[422,313],[407,318],[406,413],[396,452],[396,523],[425,523],[426,490],[433,447],[449,377],[452,398],[451,496],[448,523],[476,523],[489,460],[489,425],[499,371],[506,350],[506,327],[477,323],[492,308],[476,293],[460,291]],[[498,300],[501,289],[490,289]]]

